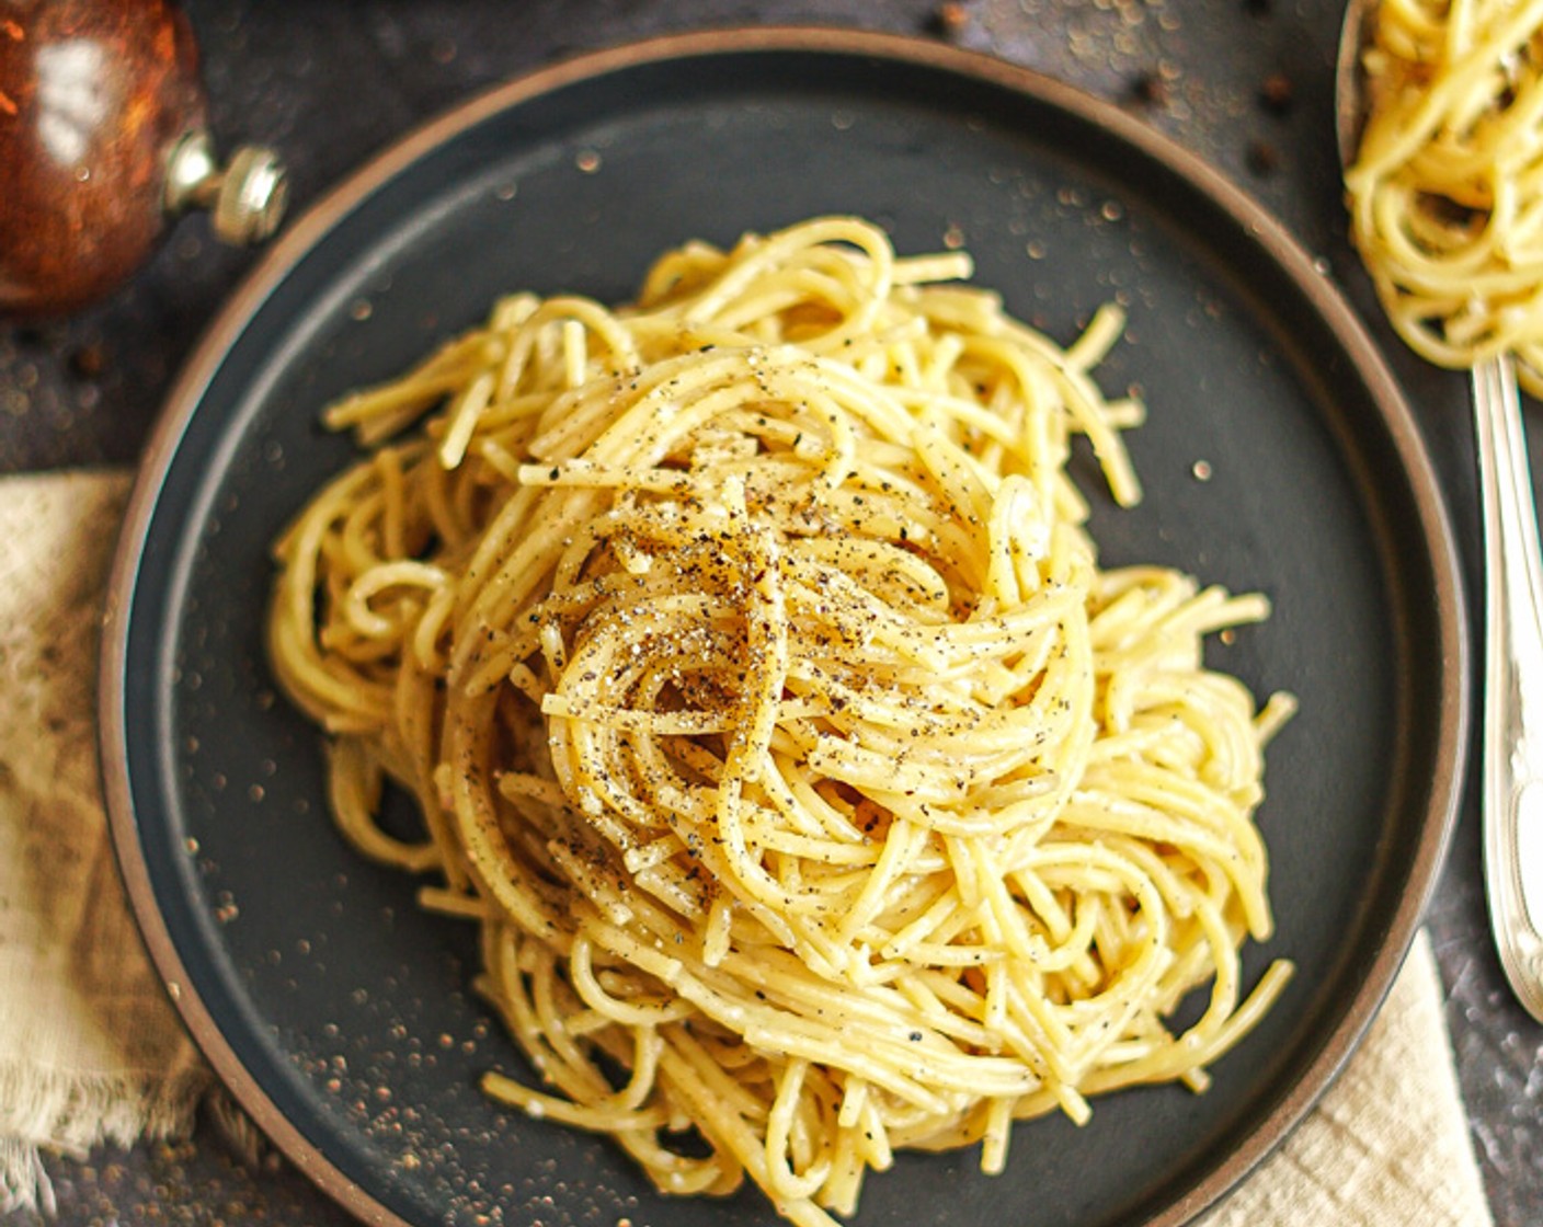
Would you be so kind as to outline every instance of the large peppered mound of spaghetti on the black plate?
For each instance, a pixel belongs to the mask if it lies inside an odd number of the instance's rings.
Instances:
[[[276,545],[341,829],[480,924],[531,1066],[485,1090],[668,1193],[815,1227],[900,1148],[1000,1170],[1014,1121],[1204,1090],[1290,971],[1239,963],[1290,701],[1202,662],[1267,603],[1100,570],[1066,461],[1136,500],[1120,313],[1063,349],[969,273],[827,218],[508,298],[327,411],[367,455]]]

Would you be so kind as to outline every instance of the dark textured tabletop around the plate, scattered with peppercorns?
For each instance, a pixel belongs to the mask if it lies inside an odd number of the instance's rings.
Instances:
[[[477,90],[665,31],[816,23],[943,37],[1119,100],[1254,193],[1372,323],[1435,457],[1477,593],[1480,531],[1466,383],[1407,355],[1347,247],[1333,147],[1339,0],[190,0],[216,133],[276,145],[296,208],[393,137]],[[252,261],[184,221],[111,301],[0,327],[0,471],[131,463],[179,363]],[[1543,415],[1528,406],[1534,472]],[[1474,625],[1475,642],[1480,627]],[[1500,1227],[1543,1222],[1543,1026],[1491,949],[1469,789],[1429,912],[1474,1148]],[[176,1145],[49,1159],[56,1221],[341,1224],[296,1173],[238,1158],[204,1121]],[[40,1216],[17,1216],[35,1227]]]

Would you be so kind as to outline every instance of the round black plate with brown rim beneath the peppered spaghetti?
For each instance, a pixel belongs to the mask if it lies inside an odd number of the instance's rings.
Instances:
[[[478,1094],[522,1062],[471,992],[472,934],[339,843],[318,736],[264,661],[267,545],[350,458],[318,411],[505,290],[622,299],[665,247],[827,211],[904,252],[963,239],[1063,340],[1128,306],[1102,378],[1150,401],[1148,497],[1113,509],[1079,461],[1105,559],[1268,593],[1273,620],[1214,659],[1301,698],[1259,815],[1279,934],[1247,955],[1298,975],[1213,1090],[1028,1122],[995,1179],[975,1151],[904,1156],[858,1221],[1187,1219],[1325,1087],[1412,937],[1463,744],[1450,543],[1389,377],[1281,228],[1114,108],[944,46],[756,31],[594,56],[420,131],[289,232],[177,384],[116,573],[103,758],[150,948],[241,1102],[373,1222],[773,1215],[755,1192],[667,1204],[605,1141]]]

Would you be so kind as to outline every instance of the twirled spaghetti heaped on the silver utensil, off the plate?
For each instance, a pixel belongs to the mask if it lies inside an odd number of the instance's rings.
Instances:
[[[1543,395],[1543,0],[1376,0],[1352,235],[1400,336]]]

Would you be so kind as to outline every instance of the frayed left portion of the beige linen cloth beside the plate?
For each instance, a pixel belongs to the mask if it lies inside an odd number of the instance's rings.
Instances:
[[[37,1147],[187,1128],[208,1076],[123,903],[102,815],[96,659],[128,477],[0,480],[0,1212]]]

